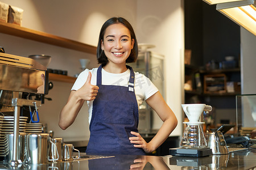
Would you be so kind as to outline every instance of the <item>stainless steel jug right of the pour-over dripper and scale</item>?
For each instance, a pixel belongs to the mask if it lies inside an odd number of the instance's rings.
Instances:
[[[226,147],[226,141],[221,131],[205,133],[207,137],[208,147],[212,149],[213,155],[229,154],[228,147]]]

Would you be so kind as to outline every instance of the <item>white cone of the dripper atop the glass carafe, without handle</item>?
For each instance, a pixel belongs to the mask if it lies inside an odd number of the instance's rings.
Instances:
[[[181,104],[189,122],[198,122],[204,111],[205,104]]]

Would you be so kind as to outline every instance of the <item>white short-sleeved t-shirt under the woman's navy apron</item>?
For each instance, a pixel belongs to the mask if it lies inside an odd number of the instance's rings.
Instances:
[[[96,85],[97,83],[97,70],[98,68],[94,68],[92,70],[84,70],[82,73],[79,74],[79,76],[76,79],[76,82],[73,84],[73,87],[71,90],[79,90],[84,83],[86,82],[86,79],[88,77],[88,74],[92,73],[92,79],[90,80],[90,84]],[[128,87],[128,81],[130,78],[130,69],[127,69],[124,73],[121,74],[114,74],[114,73],[108,73],[102,68],[102,85],[114,85],[114,86],[125,86]],[[150,96],[154,95],[156,92],[158,92],[158,88],[155,87],[155,85],[151,82],[150,79],[148,79],[143,74],[140,74],[138,72],[134,72],[135,79],[134,79],[134,92],[137,99],[138,107],[142,104],[144,100],[147,100]],[[88,112],[89,112],[89,123],[92,118],[92,108],[93,108],[93,100],[87,101],[88,105]]]

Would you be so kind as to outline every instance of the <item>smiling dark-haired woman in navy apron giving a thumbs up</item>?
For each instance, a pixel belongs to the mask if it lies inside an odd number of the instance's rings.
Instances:
[[[135,62],[138,44],[130,23],[110,18],[101,28],[97,46],[100,67],[86,69],[72,87],[60,112],[59,126],[67,129],[84,101],[89,107],[90,139],[86,154],[144,155],[156,150],[171,134],[177,119],[158,89],[126,63]],[[163,121],[150,142],[138,133],[138,105],[146,100]]]

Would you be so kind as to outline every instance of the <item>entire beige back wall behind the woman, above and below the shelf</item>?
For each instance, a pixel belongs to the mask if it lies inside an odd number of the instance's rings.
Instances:
[[[156,45],[155,52],[166,56],[166,99],[167,103],[179,118],[181,127],[181,81],[183,76],[180,66],[183,65],[183,11],[180,1],[34,1],[34,0],[1,0],[9,5],[23,8],[23,27],[51,33],[68,39],[97,45],[101,25],[112,16],[123,16],[133,25],[138,41]],[[76,2],[76,3],[74,3]],[[147,30],[145,30],[147,29]],[[147,31],[147,34],[144,34]],[[52,69],[68,70],[73,76],[80,71],[79,58],[90,58],[90,67],[96,67],[96,56],[26,40],[0,33],[0,45],[6,53],[18,56],[30,54],[48,54]],[[57,126],[59,112],[65,105],[72,83],[53,82],[54,87],[46,97],[47,101],[40,107],[40,122],[47,123],[48,130],[55,131],[56,137],[64,141],[89,138],[88,112],[86,105],[82,108],[75,124],[63,131]],[[159,127],[159,122],[155,122]],[[75,132],[75,133],[74,133]],[[173,135],[181,135],[181,128]]]

